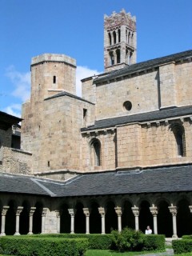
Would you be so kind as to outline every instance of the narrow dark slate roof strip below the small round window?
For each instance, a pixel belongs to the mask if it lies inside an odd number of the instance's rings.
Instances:
[[[140,114],[131,114],[117,118],[106,118],[95,121],[93,126],[82,128],[81,131],[104,129],[107,127],[114,127],[132,122],[152,122],[158,120],[165,120],[167,118],[179,118],[183,116],[192,115],[192,106],[174,107],[164,110],[156,110]]]

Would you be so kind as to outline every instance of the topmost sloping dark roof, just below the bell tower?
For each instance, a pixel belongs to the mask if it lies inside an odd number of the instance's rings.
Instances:
[[[161,58],[154,58],[150,59],[146,62],[139,62],[136,64],[132,64],[130,66],[125,66],[122,69],[119,70],[113,70],[109,73],[104,73],[98,75],[98,78],[94,79],[94,83],[98,84],[100,82],[104,82],[110,79],[122,77],[123,75],[127,74],[133,74],[136,72],[140,72],[142,70],[147,70],[154,68],[155,66],[160,66],[167,62],[178,62],[179,60],[185,59],[185,58],[191,58],[192,57],[192,50],[186,50],[182,51],[178,54],[170,54]]]

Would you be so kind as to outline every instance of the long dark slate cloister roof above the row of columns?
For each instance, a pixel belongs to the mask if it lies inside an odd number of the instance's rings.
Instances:
[[[166,193],[192,190],[192,166],[78,174],[66,182],[0,174],[0,192],[74,197],[107,194]]]

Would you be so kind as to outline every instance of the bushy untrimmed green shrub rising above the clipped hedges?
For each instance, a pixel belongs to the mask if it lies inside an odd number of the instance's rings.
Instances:
[[[112,230],[111,249],[120,252],[126,250],[142,250],[143,234],[141,231],[135,231],[130,228],[125,228],[119,233],[117,230]]]

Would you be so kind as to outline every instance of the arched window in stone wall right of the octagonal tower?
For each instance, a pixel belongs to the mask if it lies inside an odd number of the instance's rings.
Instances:
[[[93,166],[101,166],[102,161],[102,152],[101,152],[101,143],[97,138],[90,143],[90,154],[91,154],[91,163]]]

